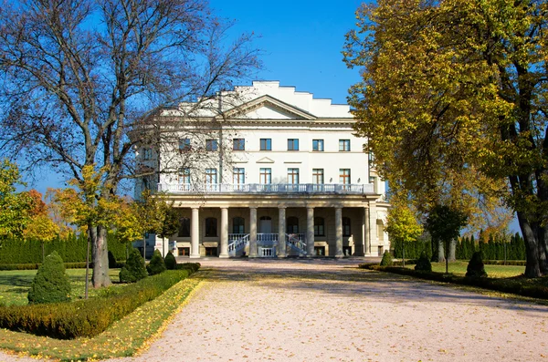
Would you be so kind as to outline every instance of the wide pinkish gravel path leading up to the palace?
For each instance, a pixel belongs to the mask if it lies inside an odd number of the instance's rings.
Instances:
[[[141,355],[116,361],[548,362],[548,306],[352,260],[200,263],[211,277],[183,312]]]

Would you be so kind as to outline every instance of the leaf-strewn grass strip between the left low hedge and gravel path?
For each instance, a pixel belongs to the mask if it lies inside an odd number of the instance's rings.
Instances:
[[[175,284],[156,299],[113,323],[92,338],[59,340],[44,336],[0,330],[0,348],[61,361],[130,357],[146,341],[167,326],[175,312],[207,273],[200,272]]]

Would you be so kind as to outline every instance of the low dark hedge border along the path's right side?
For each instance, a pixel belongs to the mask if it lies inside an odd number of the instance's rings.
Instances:
[[[477,286],[479,288],[494,290],[502,293],[548,299],[548,286],[524,284],[523,282],[525,279],[470,278],[467,276],[457,276],[437,272],[420,272],[413,269],[401,268],[397,266],[381,266],[379,264],[360,264],[359,267],[362,269],[376,270],[380,272],[415,276],[417,278],[433,280],[436,282]]]

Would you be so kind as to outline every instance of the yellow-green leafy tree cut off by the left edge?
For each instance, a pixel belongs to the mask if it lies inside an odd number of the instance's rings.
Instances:
[[[24,185],[15,163],[2,160],[0,164],[0,237],[21,235],[29,222],[32,199],[28,192],[17,192]]]

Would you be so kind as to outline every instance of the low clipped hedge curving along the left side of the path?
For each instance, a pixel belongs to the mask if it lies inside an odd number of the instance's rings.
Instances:
[[[0,328],[60,339],[97,336],[193,270],[195,267],[167,271],[121,289],[106,290],[100,297],[72,303],[0,306]]]

